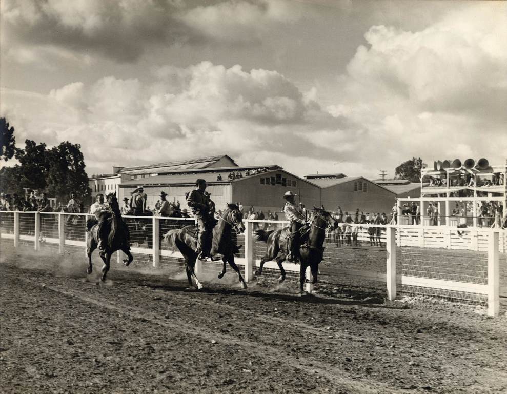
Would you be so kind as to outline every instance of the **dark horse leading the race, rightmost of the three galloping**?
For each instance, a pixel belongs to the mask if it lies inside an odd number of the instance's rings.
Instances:
[[[318,266],[322,261],[324,248],[324,239],[326,238],[326,230],[336,229],[338,222],[333,218],[330,212],[324,210],[324,207],[314,207],[314,218],[310,226],[308,241],[299,248],[300,254],[300,271],[299,271],[299,291],[303,292],[303,283],[306,279],[306,269],[310,267],[312,271],[312,283],[317,282]],[[262,267],[267,261],[275,260],[280,268],[281,276],[278,282],[285,281],[285,269],[282,262],[287,258],[287,244],[280,241],[280,237],[284,229],[275,231],[255,230],[255,239],[267,243],[266,254],[260,260],[260,267],[255,271],[255,275],[262,275]]]

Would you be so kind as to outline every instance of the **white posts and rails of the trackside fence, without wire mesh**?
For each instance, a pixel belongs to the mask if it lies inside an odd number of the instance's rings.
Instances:
[[[52,213],[52,212],[0,212],[0,237],[12,239],[14,247],[19,247],[21,241],[33,242],[35,250],[39,250],[41,242],[46,244],[58,245],[60,253],[64,252],[66,245],[82,247],[86,252],[86,230],[85,223],[89,214],[78,213]],[[154,242],[161,239],[169,228],[179,228],[187,224],[193,224],[192,218],[160,218],[156,216],[125,216],[124,220],[129,222],[131,233],[131,252],[146,255],[152,260],[155,267],[160,266],[160,259],[182,258],[179,252],[165,250],[160,248],[160,242]],[[285,221],[259,221],[245,220],[246,225],[244,237],[245,255],[236,258],[236,263],[245,268],[245,280],[251,282],[254,279],[254,269],[260,265],[260,255],[256,252],[265,250],[265,246],[255,241],[253,231],[258,226],[277,227],[287,225]],[[340,226],[347,226],[340,224]],[[488,298],[488,313],[495,315],[499,313],[500,298],[500,269],[499,255],[505,251],[505,242],[507,235],[505,230],[487,229],[487,228],[453,228],[453,227],[435,227],[435,226],[416,226],[416,225],[370,225],[370,224],[350,224],[352,228],[357,227],[357,233],[348,232],[331,233],[327,235],[326,251],[324,261],[333,262],[343,255],[342,246],[362,245],[364,250],[368,249],[368,244],[374,250],[376,255],[385,252],[385,272],[368,272],[368,270],[341,270],[340,273],[369,277],[383,281],[387,286],[389,300],[396,298],[397,286],[417,286],[425,288],[442,289],[456,292],[466,292],[480,294]],[[370,229],[370,233],[368,230]],[[375,237],[372,230],[376,229]],[[380,230],[378,230],[380,229]],[[460,231],[461,235],[457,232]],[[377,240],[373,239],[378,238]],[[375,243],[374,243],[375,242]],[[374,245],[380,248],[373,248]],[[385,246],[385,249],[383,249]],[[401,249],[399,249],[401,247]],[[397,253],[404,247],[409,249],[419,248],[419,253],[431,251],[435,248],[451,250],[472,250],[480,252],[484,257],[477,257],[477,260],[483,259],[484,278],[481,281],[461,281],[445,280],[424,277],[423,275],[406,275],[397,272]],[[259,249],[261,248],[261,249]],[[348,249],[351,250],[351,249]],[[261,253],[262,254],[262,253]],[[474,256],[474,255],[473,255]],[[123,260],[123,253],[117,254],[118,262]],[[357,258],[357,257],[356,257]],[[431,258],[431,254],[430,254]],[[474,257],[472,257],[472,260]],[[399,259],[398,259],[399,260]],[[399,261],[398,261],[399,262]],[[436,261],[435,263],[438,263]],[[202,262],[196,264],[196,271],[199,273],[203,267]],[[487,267],[486,267],[487,265]],[[299,265],[284,263],[287,271],[299,272]],[[265,268],[277,269],[275,262],[267,262]],[[347,267],[349,268],[349,267]],[[487,268],[487,272],[485,270]],[[309,272],[308,272],[309,274]],[[307,290],[312,290],[313,286],[307,284]]]

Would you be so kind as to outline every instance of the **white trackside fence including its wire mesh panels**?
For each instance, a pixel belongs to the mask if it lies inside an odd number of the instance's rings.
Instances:
[[[60,253],[66,246],[86,250],[88,216],[91,215],[2,211],[0,237],[13,240],[14,247],[24,241],[33,243],[35,250],[39,250],[42,243],[57,247]],[[125,216],[124,220],[129,224],[134,257],[148,260],[153,266],[182,259],[179,252],[168,250],[160,241],[169,229],[194,223],[191,218],[156,216]],[[245,279],[250,282],[266,251],[266,245],[254,239],[254,230],[276,230],[288,222],[244,222],[246,231],[238,236],[238,244],[245,247],[236,263],[244,268]],[[500,277],[505,277],[505,272],[500,271],[500,253],[505,252],[506,242],[506,231],[500,229],[340,224],[326,235],[320,270],[321,273],[383,282],[389,300],[394,300],[398,289],[403,288],[416,289],[415,292],[423,289],[440,294],[468,294],[472,298],[477,295],[487,300],[488,313],[495,315],[500,307]],[[118,261],[123,260],[122,254],[117,253]],[[208,264],[216,265],[198,261],[197,273]],[[296,280],[299,265],[286,262],[284,266],[289,276],[292,271],[293,280]],[[278,266],[275,262],[267,262],[265,269],[268,275],[275,275]],[[312,289],[312,285],[307,284],[307,290]]]

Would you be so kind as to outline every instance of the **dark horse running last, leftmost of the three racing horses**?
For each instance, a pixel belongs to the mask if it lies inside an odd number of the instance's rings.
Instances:
[[[106,199],[113,214],[110,224],[104,224],[104,226],[110,226],[110,230],[105,249],[99,252],[100,258],[102,258],[104,261],[104,267],[102,267],[102,277],[100,277],[101,281],[106,280],[106,275],[109,271],[111,255],[115,251],[121,250],[127,254],[128,259],[125,259],[123,261],[126,266],[128,266],[134,259],[130,253],[129,228],[121,218],[118,200],[116,200],[116,192],[108,194],[106,196]],[[95,218],[91,220],[89,219],[87,221],[86,229],[88,232],[88,239],[86,242],[86,253],[88,255],[87,272],[90,274],[93,270],[92,253],[98,245],[98,223]]]

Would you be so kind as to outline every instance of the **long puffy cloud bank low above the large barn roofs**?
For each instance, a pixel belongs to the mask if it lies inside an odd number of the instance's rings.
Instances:
[[[71,83],[37,96],[37,110],[28,120],[24,108],[13,105],[16,94],[3,93],[7,105],[2,113],[11,123],[33,139],[41,126],[53,130],[49,144],[82,144],[92,168],[218,152],[240,156],[245,150],[269,152],[270,162],[279,152],[334,160],[337,150],[322,144],[316,133],[340,133],[348,124],[321,109],[315,91],[303,94],[276,71],[245,71],[210,62],[161,67],[150,83],[113,76],[89,86]]]

